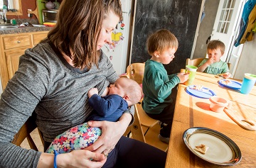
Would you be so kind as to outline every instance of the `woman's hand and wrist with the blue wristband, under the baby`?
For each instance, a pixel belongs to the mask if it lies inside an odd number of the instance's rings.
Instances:
[[[53,154],[42,153],[39,158],[38,168],[53,167]],[[102,167],[107,161],[107,157],[100,153],[89,150],[73,150],[72,152],[56,156],[58,167],[64,168],[97,168]]]

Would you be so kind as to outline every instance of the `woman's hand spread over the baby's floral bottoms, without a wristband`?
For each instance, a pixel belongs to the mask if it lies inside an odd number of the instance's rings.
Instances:
[[[86,147],[86,150],[95,151],[97,153],[104,153],[107,155],[114,149],[119,139],[124,134],[132,116],[129,113],[124,113],[119,121],[89,121],[87,122],[90,127],[102,128],[102,135],[100,138],[90,147]]]

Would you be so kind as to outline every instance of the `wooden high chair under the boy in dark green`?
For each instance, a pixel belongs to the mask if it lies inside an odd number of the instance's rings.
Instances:
[[[122,75],[122,77],[133,79],[138,84],[142,84],[144,67],[144,63],[133,63],[127,67],[127,74]],[[132,138],[166,151],[168,145],[157,138],[159,130],[156,130],[154,127],[158,121],[146,115],[146,112],[142,108],[142,100],[135,105],[134,123],[129,127]],[[152,131],[149,131],[149,128]]]

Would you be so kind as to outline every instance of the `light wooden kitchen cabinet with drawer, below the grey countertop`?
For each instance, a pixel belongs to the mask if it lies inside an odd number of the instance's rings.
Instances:
[[[4,88],[18,69],[18,60],[27,48],[46,38],[48,31],[0,35],[0,75]]]

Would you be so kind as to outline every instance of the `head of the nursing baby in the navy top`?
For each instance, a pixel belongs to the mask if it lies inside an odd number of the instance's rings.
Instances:
[[[108,94],[118,94],[132,106],[142,99],[142,87],[132,79],[120,77],[110,84]]]

